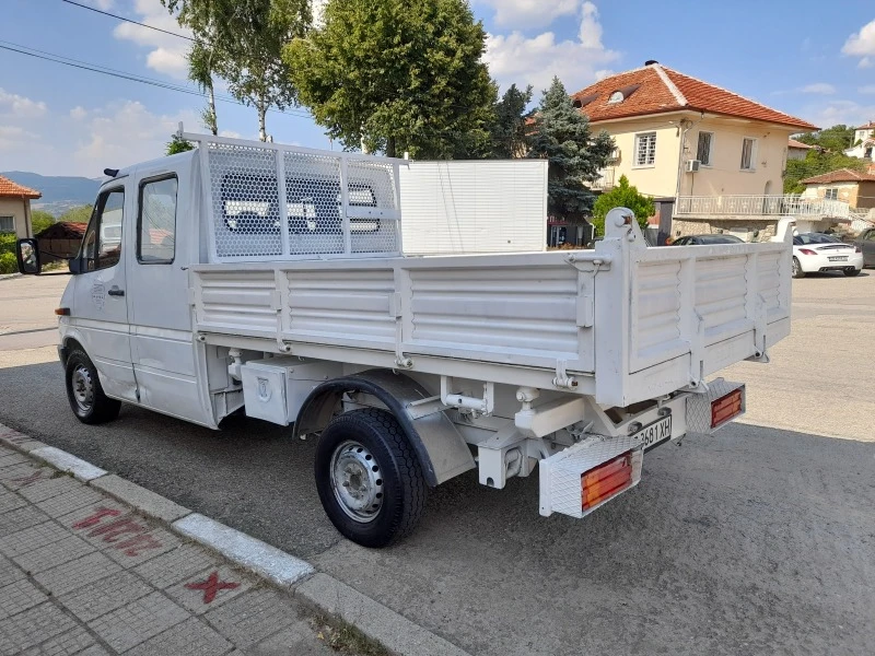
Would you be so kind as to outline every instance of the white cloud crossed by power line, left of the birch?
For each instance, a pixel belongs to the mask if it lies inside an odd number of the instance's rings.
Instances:
[[[137,20],[141,23],[160,27],[167,32],[191,36],[191,32],[180,27],[176,23],[176,19],[160,2],[135,0],[133,9],[137,13]],[[130,40],[139,46],[150,48],[145,58],[145,65],[150,69],[178,80],[186,79],[188,62],[185,56],[191,46],[191,42],[132,23],[120,23],[113,31],[113,35],[118,39]]]

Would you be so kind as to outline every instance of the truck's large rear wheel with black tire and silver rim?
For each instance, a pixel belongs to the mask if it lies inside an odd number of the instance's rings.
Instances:
[[[316,446],[315,475],[331,524],[362,547],[386,547],[410,535],[425,507],[419,459],[385,410],[332,419]]]

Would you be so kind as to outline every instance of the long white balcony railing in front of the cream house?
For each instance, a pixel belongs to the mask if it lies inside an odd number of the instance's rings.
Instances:
[[[850,208],[841,200],[801,196],[679,196],[675,216],[821,216],[848,219]]]

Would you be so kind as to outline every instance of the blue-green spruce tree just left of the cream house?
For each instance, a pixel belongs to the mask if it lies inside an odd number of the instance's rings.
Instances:
[[[614,150],[614,140],[604,130],[593,137],[590,120],[571,103],[559,78],[553,78],[530,127],[527,156],[549,160],[548,214],[574,220],[593,207],[594,195],[584,181],[598,178],[598,169],[605,167]]]

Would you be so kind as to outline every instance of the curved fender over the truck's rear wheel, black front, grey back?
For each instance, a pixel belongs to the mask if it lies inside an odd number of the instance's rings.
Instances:
[[[300,437],[324,429],[337,412],[343,394],[362,391],[378,399],[400,424],[422,467],[429,487],[475,468],[468,445],[442,411],[424,417],[410,412],[415,401],[432,395],[405,374],[390,370],[368,370],[327,380],[313,389],[301,406],[294,423]]]

